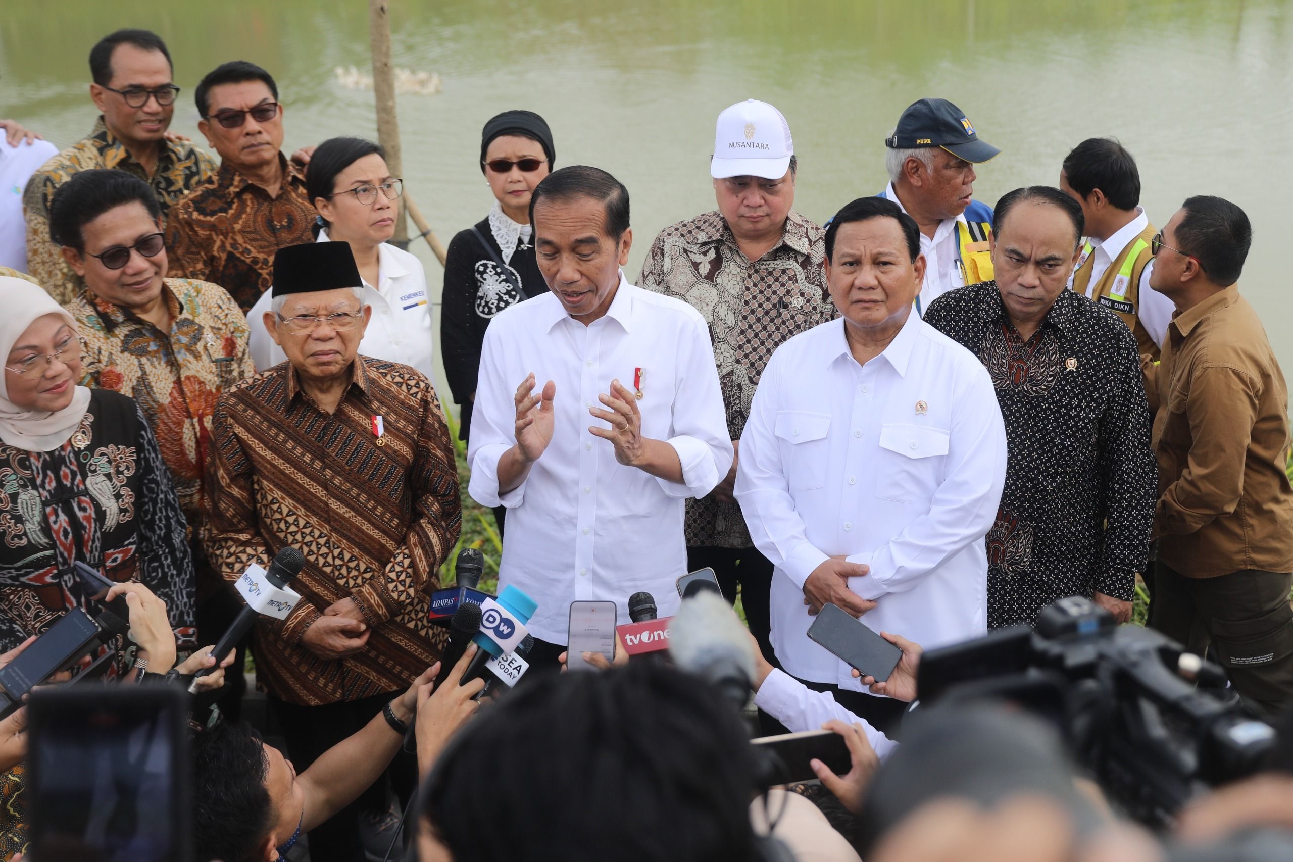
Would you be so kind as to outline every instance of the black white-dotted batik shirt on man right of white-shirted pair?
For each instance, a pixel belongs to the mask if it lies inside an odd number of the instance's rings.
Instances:
[[[944,293],[924,322],[987,366],[1006,421],[1006,489],[987,536],[988,627],[1032,625],[1067,596],[1130,601],[1159,481],[1135,336],[1063,291],[1024,340],[996,282]]]

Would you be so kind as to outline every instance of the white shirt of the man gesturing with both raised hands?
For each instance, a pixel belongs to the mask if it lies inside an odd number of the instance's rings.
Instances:
[[[500,494],[498,463],[516,443],[516,389],[534,372],[556,384],[553,433],[526,479]],[[667,442],[683,482],[615,459],[608,428],[590,415],[610,381],[634,392],[641,434]],[[613,601],[627,623],[628,597],[649,592],[661,616],[679,605],[687,574],[684,503],[709,494],[732,465],[723,394],[705,319],[696,309],[635,287],[619,274],[606,314],[584,326],[555,293],[498,314],[485,333],[472,411],[472,478],[481,505],[507,507],[499,589],[513,584],[538,602],[530,633],[566,642],[573,601]]]

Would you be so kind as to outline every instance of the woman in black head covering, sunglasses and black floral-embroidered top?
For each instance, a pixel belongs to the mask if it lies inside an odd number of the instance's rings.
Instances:
[[[489,216],[459,231],[445,261],[440,345],[467,439],[485,330],[495,314],[548,289],[534,257],[530,193],[552,171],[552,132],[531,111],[507,111],[481,134],[481,172],[494,193]]]

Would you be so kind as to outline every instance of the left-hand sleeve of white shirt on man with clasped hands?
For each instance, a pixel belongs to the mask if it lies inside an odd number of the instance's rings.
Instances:
[[[741,433],[736,499],[754,545],[803,589],[812,570],[828,557],[808,541],[808,530],[790,496],[781,447],[773,433],[781,390],[780,357],[780,352],[773,353],[763,370],[750,405],[750,417]]]

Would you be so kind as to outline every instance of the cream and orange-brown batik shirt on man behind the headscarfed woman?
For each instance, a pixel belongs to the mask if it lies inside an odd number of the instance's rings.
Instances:
[[[184,516],[198,530],[216,398],[256,371],[247,349],[247,319],[222,287],[168,278],[162,289],[173,318],[169,332],[89,291],[81,291],[67,310],[85,339],[81,385],[138,402]]]

